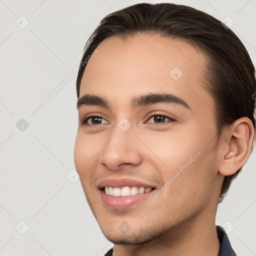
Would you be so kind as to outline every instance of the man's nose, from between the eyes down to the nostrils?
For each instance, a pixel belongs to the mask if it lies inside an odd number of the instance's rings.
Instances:
[[[111,170],[118,170],[123,165],[136,166],[142,162],[139,140],[133,134],[132,126],[123,131],[116,125],[110,139],[100,152],[100,162]],[[141,148],[143,150],[143,148]]]

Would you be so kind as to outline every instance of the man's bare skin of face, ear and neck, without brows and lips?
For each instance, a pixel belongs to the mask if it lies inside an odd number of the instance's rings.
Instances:
[[[103,119],[79,123],[74,161],[89,206],[114,243],[114,255],[218,255],[215,214],[221,184],[249,155],[251,121],[236,120],[217,143],[214,99],[203,87],[207,59],[182,40],[138,34],[107,38],[97,49],[85,68],[80,97],[104,97],[111,109],[79,107],[79,121],[92,113]],[[183,73],[176,81],[169,75],[173,67]],[[131,106],[133,96],[149,92],[174,94],[190,109],[165,103]],[[159,113],[175,121],[148,119]],[[118,126],[123,118],[131,123],[127,131]],[[103,204],[99,180],[134,178],[158,190],[197,151],[200,156],[154,202],[145,199],[125,209]],[[130,226],[126,233],[118,228],[123,221]]]

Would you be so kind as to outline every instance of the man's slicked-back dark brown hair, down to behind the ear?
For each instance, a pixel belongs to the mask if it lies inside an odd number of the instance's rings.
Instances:
[[[243,116],[248,117],[255,128],[252,96],[255,95],[255,70],[248,52],[219,20],[185,5],[138,3],[106,15],[85,44],[76,81],[78,98],[88,56],[98,44],[110,36],[125,39],[139,32],[185,40],[206,54],[209,61],[205,89],[215,100],[218,138],[224,126]],[[225,176],[219,202],[240,170]]]

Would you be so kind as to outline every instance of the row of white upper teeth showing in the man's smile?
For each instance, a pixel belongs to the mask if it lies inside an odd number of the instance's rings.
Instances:
[[[139,187],[137,188],[136,186],[132,186],[131,188],[129,186],[123,186],[121,188],[119,187],[111,187],[111,186],[106,186],[104,191],[108,195],[113,195],[113,196],[128,196],[128,195],[136,195],[136,194],[142,194],[142,193],[147,193],[152,190],[152,187]]]

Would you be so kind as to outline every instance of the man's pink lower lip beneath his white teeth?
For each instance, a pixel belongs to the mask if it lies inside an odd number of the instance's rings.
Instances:
[[[128,196],[113,196],[108,195],[104,191],[100,191],[100,196],[102,201],[110,208],[114,209],[124,209],[127,207],[130,207],[134,205],[135,203],[138,203],[139,201],[148,198],[148,195],[150,192],[152,192],[154,189],[152,189],[149,192],[142,193],[142,194],[136,194],[136,195],[128,195]]]

